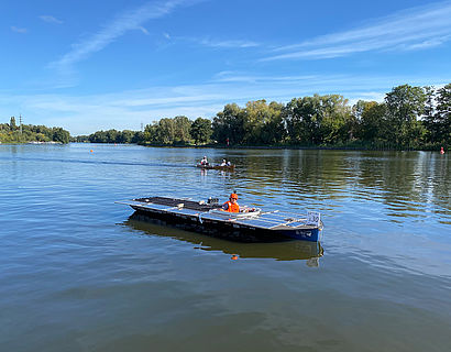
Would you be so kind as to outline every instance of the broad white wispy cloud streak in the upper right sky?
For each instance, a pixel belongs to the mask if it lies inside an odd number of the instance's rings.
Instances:
[[[413,8],[355,30],[283,46],[263,61],[315,59],[371,51],[424,50],[451,38],[451,1]]]

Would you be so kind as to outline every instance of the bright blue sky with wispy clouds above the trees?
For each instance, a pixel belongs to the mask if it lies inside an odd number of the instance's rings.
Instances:
[[[0,23],[0,122],[73,135],[451,82],[451,1],[7,0]]]

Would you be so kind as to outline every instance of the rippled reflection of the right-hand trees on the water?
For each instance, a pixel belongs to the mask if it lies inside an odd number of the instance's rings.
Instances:
[[[234,162],[237,188],[257,202],[328,211],[352,200],[381,205],[394,222],[436,215],[451,223],[451,163],[438,153],[248,151]]]

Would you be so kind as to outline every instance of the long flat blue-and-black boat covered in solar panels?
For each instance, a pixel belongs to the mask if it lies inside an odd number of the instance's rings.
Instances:
[[[286,211],[262,211],[240,207],[240,212],[221,210],[218,198],[194,201],[186,198],[148,197],[118,201],[138,212],[186,229],[238,241],[284,241],[297,239],[317,242],[322,231],[320,213],[306,215]]]

